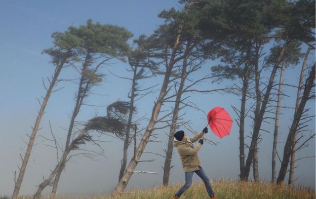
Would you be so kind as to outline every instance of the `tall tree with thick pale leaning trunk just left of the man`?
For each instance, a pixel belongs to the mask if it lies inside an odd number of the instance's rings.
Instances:
[[[127,166],[122,178],[118,182],[118,185],[114,191],[115,196],[121,194],[125,189],[130,177],[132,176],[137,163],[139,162],[140,157],[142,156],[144,149],[149,141],[152,132],[156,129],[163,127],[155,127],[157,122],[163,120],[170,114],[161,117],[158,119],[158,115],[161,109],[162,104],[166,100],[166,96],[170,91],[169,83],[170,77],[174,73],[174,66],[176,63],[181,61],[184,57],[187,56],[186,53],[191,52],[191,50],[196,46],[197,43],[193,43],[189,50],[183,50],[183,42],[185,41],[185,31],[186,25],[188,24],[187,18],[185,18],[185,11],[176,11],[175,9],[170,9],[169,11],[162,11],[159,14],[159,17],[165,19],[165,24],[161,25],[154,35],[150,37],[151,43],[153,44],[153,49],[156,51],[155,58],[163,60],[165,71],[164,79],[161,84],[159,91],[159,96],[157,101],[154,104],[152,116],[149,120],[148,126],[145,130],[145,133],[137,147],[135,157],[131,159],[129,165]],[[198,38],[197,38],[198,39]],[[169,126],[169,125],[167,125]]]

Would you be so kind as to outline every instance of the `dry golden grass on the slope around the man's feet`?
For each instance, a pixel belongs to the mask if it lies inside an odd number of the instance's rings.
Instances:
[[[315,199],[315,191],[306,188],[294,188],[287,185],[272,185],[268,182],[239,182],[236,180],[219,180],[211,182],[218,199]],[[82,196],[80,199],[172,199],[182,184],[168,187],[154,187],[148,190],[132,190],[120,197]],[[48,197],[43,197],[48,198]],[[58,196],[58,199],[66,199]],[[1,199],[1,197],[0,197]],[[21,197],[21,199],[30,199]],[[181,196],[181,199],[209,199],[204,184],[197,183]]]

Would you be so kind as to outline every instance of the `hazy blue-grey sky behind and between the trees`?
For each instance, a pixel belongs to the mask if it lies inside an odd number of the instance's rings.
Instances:
[[[93,2],[93,3],[92,3]],[[141,34],[150,35],[163,21],[157,17],[163,9],[180,7],[177,0],[55,0],[55,1],[1,1],[0,2],[0,195],[10,195],[13,191],[13,172],[20,165],[20,147],[25,149],[23,140],[27,140],[26,134],[31,133],[31,125],[34,124],[39,104],[37,98],[44,95],[41,79],[50,76],[53,67],[49,64],[49,57],[42,55],[41,51],[51,47],[50,35],[55,32],[63,32],[71,25],[84,25],[87,19],[103,24],[115,24],[123,26],[134,34],[137,38]],[[302,46],[302,52],[306,51],[306,46]],[[309,64],[315,61],[315,52],[310,55]],[[207,62],[205,67],[197,72],[193,78],[198,79],[210,72],[211,65],[218,62]],[[101,95],[91,95],[86,102],[94,105],[106,106],[118,99],[127,100],[126,94],[129,91],[129,82],[119,80],[109,73],[109,71],[128,77],[125,70],[128,67],[121,62],[115,62],[112,66],[104,69],[107,75],[105,81],[99,87],[94,88],[94,92]],[[285,72],[285,82],[296,85],[301,64]],[[108,71],[109,70],[109,71]],[[267,75],[268,72],[265,72]],[[65,69],[62,72],[63,78],[75,78],[76,74],[72,69]],[[278,78],[278,76],[276,77]],[[141,82],[144,86],[159,83],[161,77],[153,80]],[[220,84],[204,82],[200,87],[208,89],[225,87],[231,81],[223,81]],[[235,83],[238,83],[236,81]],[[66,82],[58,85],[64,87],[63,90],[54,93],[49,99],[46,113],[41,122],[39,135],[48,135],[48,120],[51,120],[52,127],[56,135],[63,141],[65,130],[69,125],[69,114],[74,106],[74,94],[76,84]],[[295,102],[296,89],[284,87],[289,98],[284,98],[283,105],[291,106]],[[151,94],[140,100],[136,106],[138,117],[150,117],[153,102],[157,93]],[[232,118],[236,118],[231,105],[239,108],[239,96],[213,94],[190,94],[191,101],[205,112],[212,107],[222,106],[228,110]],[[172,105],[170,105],[172,107]],[[311,115],[315,115],[315,101],[308,103],[311,108]],[[164,107],[169,109],[169,105]],[[95,114],[105,115],[105,107],[83,107],[78,120],[84,121],[92,118]],[[185,119],[193,122],[192,126],[198,131],[206,123],[203,113],[186,109],[183,111],[187,115]],[[280,137],[278,150],[281,151],[284,140],[288,132],[293,113],[291,110],[282,110],[280,122]],[[146,121],[142,122],[146,126]],[[310,123],[310,130],[315,133],[315,119]],[[264,124],[263,127],[272,132],[272,124]],[[250,132],[250,120],[246,126],[246,131]],[[148,150],[162,153],[165,148],[166,136],[164,132],[168,129],[158,131],[161,144],[150,144]],[[271,173],[271,149],[272,133],[262,132],[264,140],[260,143],[259,151],[259,172],[263,180],[270,180]],[[190,136],[190,134],[189,134]],[[238,177],[238,126],[233,124],[232,133],[225,139],[219,139],[209,133],[210,139],[220,142],[217,146],[203,145],[199,153],[207,174],[211,179],[236,178]],[[70,162],[66,167],[66,173],[62,175],[59,191],[61,194],[74,194],[74,190],[80,190],[79,194],[106,193],[111,191],[118,178],[118,167],[121,159],[122,142],[112,138],[105,145],[105,155],[107,158],[99,161],[92,161],[84,157],[78,157]],[[249,140],[247,140],[249,142]],[[40,137],[36,140],[37,145],[33,149],[31,160],[25,180],[22,184],[21,194],[32,194],[36,191],[36,185],[41,182],[42,176],[48,175],[56,163],[54,150],[45,146],[45,142]],[[92,146],[87,146],[91,147]],[[298,156],[315,155],[315,139],[307,149],[299,152]],[[146,157],[146,155],[145,155]],[[147,156],[149,157],[149,156]],[[134,175],[128,188],[150,187],[159,185],[162,181],[162,170],[160,166],[163,159],[157,158],[155,163],[141,164],[137,170],[157,170],[158,175],[144,176]],[[171,171],[172,183],[184,180],[183,172],[177,154],[174,156],[174,170]],[[278,163],[279,165],[279,163]],[[90,171],[90,172],[87,172]],[[297,184],[315,187],[315,159],[305,159],[300,162],[296,170]],[[111,180],[109,180],[111,179]],[[195,178],[198,181],[198,178]],[[48,193],[49,190],[46,190]]]

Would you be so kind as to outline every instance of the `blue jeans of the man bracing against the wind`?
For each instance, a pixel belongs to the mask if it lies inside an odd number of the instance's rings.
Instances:
[[[187,189],[189,189],[192,184],[192,177],[194,172],[203,180],[208,195],[214,196],[211,183],[209,182],[209,179],[202,167],[199,167],[199,169],[196,171],[185,172],[186,183],[179,189],[175,196],[180,197]]]

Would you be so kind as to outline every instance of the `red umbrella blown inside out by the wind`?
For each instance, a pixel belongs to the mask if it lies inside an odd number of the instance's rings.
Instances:
[[[215,107],[207,114],[207,121],[213,133],[223,138],[229,135],[233,124],[233,119],[222,107]]]

